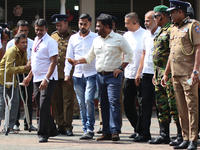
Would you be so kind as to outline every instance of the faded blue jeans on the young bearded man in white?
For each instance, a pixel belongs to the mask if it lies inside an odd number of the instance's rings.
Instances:
[[[96,74],[77,78],[73,77],[74,91],[78,99],[80,114],[83,123],[83,131],[93,132],[95,123],[95,106],[94,106],[94,94],[96,91]]]

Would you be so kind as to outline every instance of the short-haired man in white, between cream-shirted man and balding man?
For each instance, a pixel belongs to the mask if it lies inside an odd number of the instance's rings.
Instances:
[[[135,138],[137,135],[138,122],[141,115],[141,103],[142,103],[142,85],[135,85],[135,77],[140,64],[140,58],[142,56],[143,49],[141,48],[142,37],[146,32],[140,26],[139,18],[137,13],[131,12],[125,16],[125,27],[128,31],[123,35],[130,44],[133,51],[133,61],[124,70],[124,85],[123,85],[123,96],[124,96],[124,111],[125,114],[134,128],[133,133],[129,138]],[[138,99],[139,115],[135,107],[135,99]]]

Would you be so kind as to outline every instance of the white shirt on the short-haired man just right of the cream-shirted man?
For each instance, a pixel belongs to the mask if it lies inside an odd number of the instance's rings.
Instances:
[[[135,32],[127,31],[123,35],[125,39],[128,41],[128,43],[130,44],[133,51],[133,61],[130,64],[128,64],[124,70],[125,78],[135,79],[138,67],[140,65],[140,59],[143,53],[141,44],[142,44],[142,37],[145,32],[146,30],[140,27]],[[141,77],[142,77],[142,73],[141,73]]]

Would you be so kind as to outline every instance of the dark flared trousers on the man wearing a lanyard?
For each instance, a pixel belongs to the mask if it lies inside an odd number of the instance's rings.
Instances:
[[[38,136],[50,137],[57,133],[56,124],[51,116],[50,104],[57,81],[50,80],[45,90],[39,91],[41,82],[34,82],[34,99],[39,110]]]

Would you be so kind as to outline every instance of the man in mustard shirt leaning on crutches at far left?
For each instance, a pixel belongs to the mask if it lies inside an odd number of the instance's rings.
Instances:
[[[18,33],[14,37],[15,46],[9,48],[0,63],[0,125],[4,114],[4,98],[3,98],[3,88],[4,88],[4,70],[6,65],[6,81],[12,82],[13,73],[15,76],[17,73],[28,73],[30,69],[30,63],[27,63],[27,36],[24,33]],[[15,62],[15,67],[14,66]],[[14,81],[14,95],[12,99],[12,105],[10,110],[9,118],[9,130],[11,131],[18,113],[19,106],[19,88],[17,86],[17,81]],[[11,96],[12,88],[10,85],[6,85],[6,93]]]

